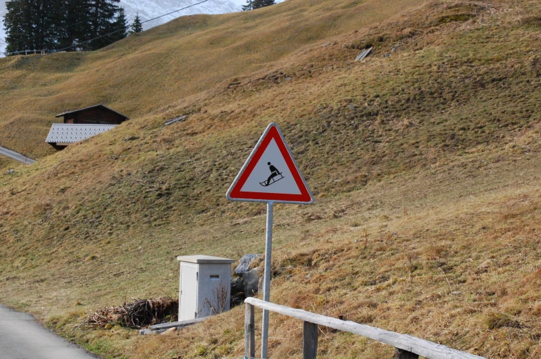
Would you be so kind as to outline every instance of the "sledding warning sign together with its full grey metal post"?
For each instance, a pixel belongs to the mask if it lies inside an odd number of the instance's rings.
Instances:
[[[271,300],[271,255],[275,203],[310,205],[313,196],[276,123],[266,128],[227,192],[230,201],[265,202],[267,223],[263,298]],[[268,358],[268,311],[263,311],[262,359]]]

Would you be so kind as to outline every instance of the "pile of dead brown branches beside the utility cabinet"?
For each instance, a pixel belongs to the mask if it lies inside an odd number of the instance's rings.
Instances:
[[[179,301],[173,298],[135,299],[119,307],[106,307],[90,314],[83,324],[110,328],[114,325],[141,329],[148,325],[174,322],[179,315]]]

